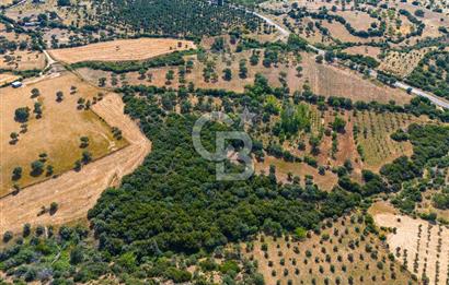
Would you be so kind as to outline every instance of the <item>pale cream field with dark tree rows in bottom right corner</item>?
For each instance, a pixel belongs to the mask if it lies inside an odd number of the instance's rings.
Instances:
[[[378,213],[376,223],[381,227],[393,228],[387,236],[390,250],[413,274],[428,284],[448,284],[449,282],[449,229],[430,224],[419,218]]]

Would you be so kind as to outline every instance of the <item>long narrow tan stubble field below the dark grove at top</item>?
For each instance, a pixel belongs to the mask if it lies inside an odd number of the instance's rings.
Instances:
[[[48,52],[58,61],[76,63],[82,61],[129,61],[145,60],[173,51],[195,48],[191,40],[173,38],[118,39],[91,44],[82,47],[51,49]]]

